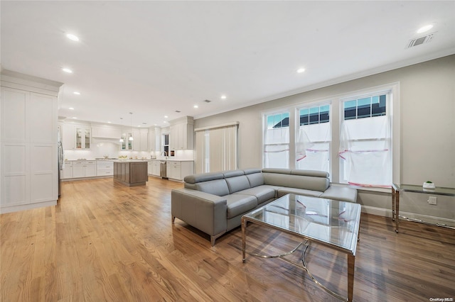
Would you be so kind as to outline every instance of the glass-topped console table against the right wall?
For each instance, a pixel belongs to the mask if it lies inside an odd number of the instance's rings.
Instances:
[[[437,186],[434,189],[424,189],[423,186],[414,184],[392,184],[392,220],[395,220],[396,233],[398,233],[398,226],[400,224],[400,192],[455,196],[455,188]]]

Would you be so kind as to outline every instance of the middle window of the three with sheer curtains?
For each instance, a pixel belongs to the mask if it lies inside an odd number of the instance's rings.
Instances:
[[[330,104],[298,108],[296,169],[330,172]]]

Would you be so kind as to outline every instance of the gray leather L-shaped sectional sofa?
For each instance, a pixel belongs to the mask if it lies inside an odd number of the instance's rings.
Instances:
[[[357,190],[331,186],[327,172],[297,169],[245,169],[193,174],[184,189],[171,192],[172,223],[181,219],[216,238],[237,228],[245,213],[286,194],[355,202]]]

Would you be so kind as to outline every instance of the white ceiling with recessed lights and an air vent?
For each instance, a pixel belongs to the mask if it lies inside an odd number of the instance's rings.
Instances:
[[[0,9],[1,67],[65,83],[59,116],[100,123],[165,127],[455,53],[455,1],[2,0]]]

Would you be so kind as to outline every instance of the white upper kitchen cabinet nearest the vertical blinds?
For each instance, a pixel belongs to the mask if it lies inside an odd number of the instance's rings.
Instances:
[[[194,121],[193,117],[185,116],[170,121],[171,150],[193,150]]]

